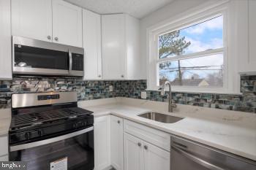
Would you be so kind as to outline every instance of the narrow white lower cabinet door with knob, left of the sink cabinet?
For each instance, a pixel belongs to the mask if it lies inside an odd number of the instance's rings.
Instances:
[[[123,119],[116,116],[111,116],[111,165],[116,170],[123,170]]]

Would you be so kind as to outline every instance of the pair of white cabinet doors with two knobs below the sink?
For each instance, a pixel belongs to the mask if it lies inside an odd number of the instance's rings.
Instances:
[[[170,170],[170,152],[124,133],[124,170]]]

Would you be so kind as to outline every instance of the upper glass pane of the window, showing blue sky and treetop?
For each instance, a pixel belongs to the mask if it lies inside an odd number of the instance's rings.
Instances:
[[[223,16],[158,37],[159,58],[223,47]]]

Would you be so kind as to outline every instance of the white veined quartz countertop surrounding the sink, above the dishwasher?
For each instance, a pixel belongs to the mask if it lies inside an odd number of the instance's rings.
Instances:
[[[256,161],[256,128],[233,125],[228,120],[198,117],[184,117],[177,123],[159,123],[138,117],[141,113],[151,111],[150,109],[124,104],[103,104],[91,107],[82,104],[80,107],[94,112],[94,117],[116,115]],[[175,113],[171,115],[182,117]]]

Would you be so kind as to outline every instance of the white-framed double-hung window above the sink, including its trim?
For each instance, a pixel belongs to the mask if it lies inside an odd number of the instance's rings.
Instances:
[[[173,91],[239,93],[247,32],[240,5],[209,1],[148,27],[148,90],[170,81]]]

